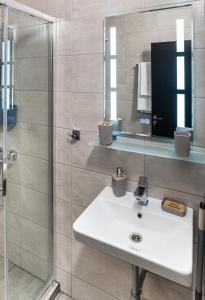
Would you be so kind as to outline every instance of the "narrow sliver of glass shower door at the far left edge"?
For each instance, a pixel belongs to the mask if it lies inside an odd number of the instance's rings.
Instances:
[[[0,300],[7,299],[8,252],[7,252],[7,208],[6,208],[6,43],[7,15],[4,6],[0,6]]]

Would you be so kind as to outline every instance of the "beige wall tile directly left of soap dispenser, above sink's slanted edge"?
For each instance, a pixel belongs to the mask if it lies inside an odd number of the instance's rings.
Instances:
[[[87,207],[110,184],[111,176],[72,168],[72,203]]]

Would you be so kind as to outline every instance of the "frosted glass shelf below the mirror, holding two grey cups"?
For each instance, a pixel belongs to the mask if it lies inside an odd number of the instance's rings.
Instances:
[[[90,141],[89,145],[94,147],[104,147],[107,149],[205,164],[205,149],[202,147],[192,146],[189,157],[180,157],[175,154],[173,143],[153,142],[147,140],[118,137],[117,140],[113,141],[113,143],[109,146],[101,145],[99,143],[99,139]]]

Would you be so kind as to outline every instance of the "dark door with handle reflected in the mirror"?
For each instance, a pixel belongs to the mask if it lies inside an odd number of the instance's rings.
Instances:
[[[177,57],[184,60],[181,72]],[[152,43],[151,61],[152,135],[173,138],[180,124],[191,127],[191,41],[185,41],[184,52],[176,52],[176,42]],[[182,72],[184,87],[178,89]]]

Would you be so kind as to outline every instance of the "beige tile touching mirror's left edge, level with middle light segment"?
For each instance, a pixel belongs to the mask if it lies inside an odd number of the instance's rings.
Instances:
[[[100,54],[72,57],[72,91],[103,92],[103,56]]]

